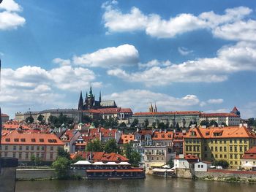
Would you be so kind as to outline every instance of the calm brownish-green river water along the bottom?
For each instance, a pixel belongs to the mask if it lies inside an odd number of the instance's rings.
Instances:
[[[192,181],[147,176],[146,180],[20,181],[16,192],[84,192],[84,191],[216,191],[255,192],[256,184]]]

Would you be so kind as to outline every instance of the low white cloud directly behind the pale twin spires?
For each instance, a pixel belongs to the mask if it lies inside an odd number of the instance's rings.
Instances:
[[[132,107],[133,112],[148,111],[148,104],[156,102],[159,111],[187,110],[188,107],[200,103],[195,95],[175,98],[163,93],[148,90],[130,89],[120,93],[112,93],[103,99],[114,99],[118,106]]]

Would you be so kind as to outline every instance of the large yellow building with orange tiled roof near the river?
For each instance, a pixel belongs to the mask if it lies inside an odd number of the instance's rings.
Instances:
[[[226,160],[231,169],[241,167],[241,157],[256,145],[256,135],[245,126],[191,128],[184,136],[184,154],[202,161]]]

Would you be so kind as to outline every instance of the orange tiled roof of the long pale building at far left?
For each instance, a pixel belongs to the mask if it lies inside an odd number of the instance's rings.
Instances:
[[[55,134],[12,131],[1,139],[3,145],[64,145]]]

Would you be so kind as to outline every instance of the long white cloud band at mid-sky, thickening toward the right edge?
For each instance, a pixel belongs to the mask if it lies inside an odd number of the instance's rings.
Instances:
[[[198,58],[182,64],[152,66],[142,72],[128,73],[123,69],[108,70],[108,74],[129,82],[147,86],[172,82],[222,82],[228,75],[241,71],[256,71],[256,45],[239,42],[219,49],[216,58]]]

